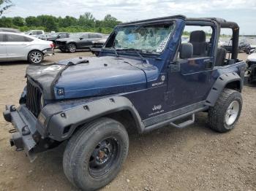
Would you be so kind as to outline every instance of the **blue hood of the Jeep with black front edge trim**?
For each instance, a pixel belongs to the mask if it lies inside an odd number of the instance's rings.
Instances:
[[[136,57],[104,56],[30,65],[26,76],[39,85],[45,99],[83,98],[144,89],[157,79],[158,69]]]

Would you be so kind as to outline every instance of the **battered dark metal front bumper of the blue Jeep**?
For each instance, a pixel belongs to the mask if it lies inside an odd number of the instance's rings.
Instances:
[[[12,122],[15,128],[10,130],[10,133],[13,133],[10,139],[11,146],[16,146],[17,151],[25,150],[29,160],[33,162],[36,159],[37,142],[35,140],[39,138],[36,129],[37,118],[22,105],[18,109],[14,105],[6,106],[3,115],[4,119]]]

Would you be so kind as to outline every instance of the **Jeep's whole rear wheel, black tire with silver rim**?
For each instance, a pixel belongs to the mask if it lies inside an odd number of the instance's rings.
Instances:
[[[224,89],[215,106],[209,109],[208,124],[210,128],[219,133],[225,133],[235,128],[242,105],[241,93],[236,90]]]

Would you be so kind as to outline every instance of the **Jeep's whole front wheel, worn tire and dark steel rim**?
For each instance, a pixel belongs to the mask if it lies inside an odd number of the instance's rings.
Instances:
[[[97,190],[117,176],[128,148],[124,125],[109,118],[95,120],[69,140],[64,152],[64,174],[82,190]]]

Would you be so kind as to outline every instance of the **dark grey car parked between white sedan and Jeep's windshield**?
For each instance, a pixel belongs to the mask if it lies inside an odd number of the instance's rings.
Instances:
[[[69,38],[57,39],[56,46],[61,52],[75,52],[76,50],[90,50],[93,42],[102,39],[99,33],[78,33],[72,34]]]

